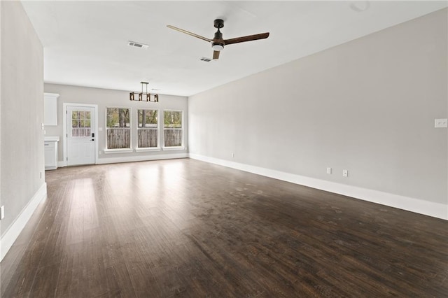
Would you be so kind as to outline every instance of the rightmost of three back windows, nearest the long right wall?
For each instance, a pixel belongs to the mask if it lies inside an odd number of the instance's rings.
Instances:
[[[182,111],[163,112],[163,136],[165,147],[183,146]]]

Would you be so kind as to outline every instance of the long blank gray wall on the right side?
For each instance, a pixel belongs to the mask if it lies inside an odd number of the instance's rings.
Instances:
[[[190,97],[190,154],[447,204],[447,80],[444,9]]]

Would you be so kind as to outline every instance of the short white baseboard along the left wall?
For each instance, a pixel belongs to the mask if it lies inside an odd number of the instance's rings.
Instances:
[[[38,204],[47,197],[47,183],[43,183],[34,196],[29,200],[27,206],[23,208],[20,215],[8,227],[0,239],[0,261],[3,260],[8,250],[13,246],[15,239],[18,238],[22,229],[27,225],[29,218],[33,215]]]

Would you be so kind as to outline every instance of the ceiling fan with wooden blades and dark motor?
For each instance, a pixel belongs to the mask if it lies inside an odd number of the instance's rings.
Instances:
[[[254,35],[248,35],[248,36],[241,36],[236,38],[230,38],[230,39],[223,39],[223,34],[221,33],[220,29],[224,27],[224,21],[221,19],[214,20],[214,27],[218,28],[218,31],[215,32],[215,36],[213,39],[197,35],[193,32],[174,27],[172,25],[167,25],[168,28],[180,31],[182,33],[188,34],[190,36],[194,36],[197,38],[202,39],[203,41],[207,41],[211,43],[211,48],[213,48],[213,59],[219,58],[219,52],[223,50],[224,45],[231,45],[232,43],[244,43],[245,41],[256,41],[257,39],[264,39],[269,36],[269,32],[266,33],[260,33],[260,34],[254,34]]]

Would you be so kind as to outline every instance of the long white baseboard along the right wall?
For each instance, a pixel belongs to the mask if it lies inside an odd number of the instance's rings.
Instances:
[[[388,192],[380,192],[378,190],[369,190],[362,187],[345,185],[341,183],[334,183],[327,180],[316,178],[309,178],[306,176],[295,175],[282,171],[275,171],[272,169],[261,168],[259,166],[251,166],[248,164],[240,164],[238,162],[230,162],[224,159],[217,159],[214,157],[207,157],[204,155],[197,155],[190,153],[190,158],[198,159],[203,162],[211,164],[219,164],[241,171],[255,173],[261,176],[275,178],[290,183],[300,184],[316,188],[318,190],[325,190],[327,192],[334,192],[342,194],[347,197],[362,199],[385,206],[400,208],[406,211],[412,211],[423,215],[433,216],[434,218],[441,218],[448,220],[448,206],[445,204],[434,203],[431,201],[423,201],[421,199],[414,199],[412,197],[404,197],[398,194],[390,194]]]

